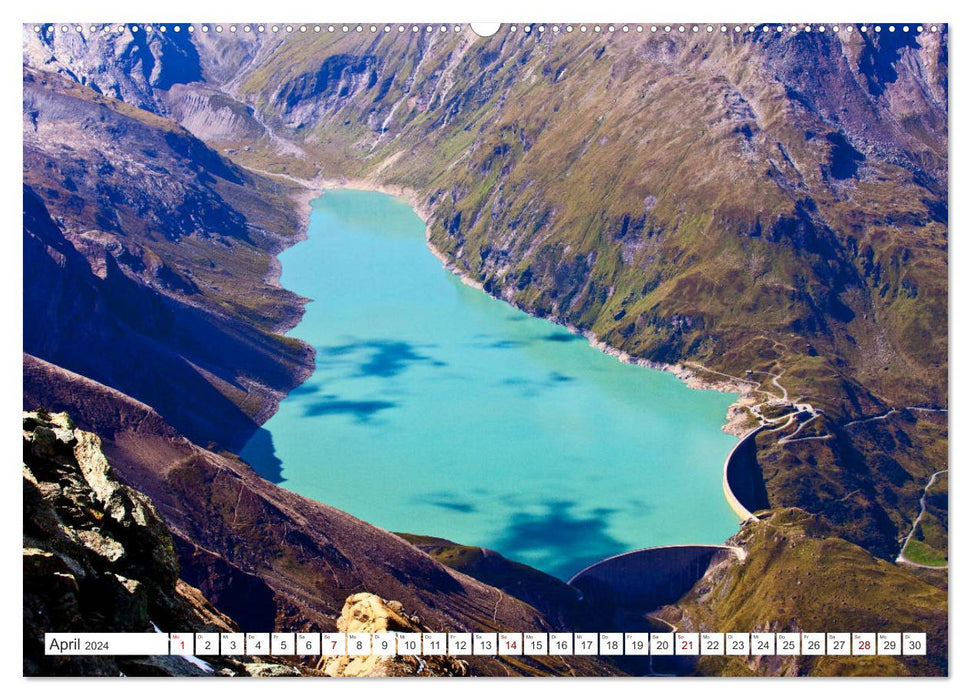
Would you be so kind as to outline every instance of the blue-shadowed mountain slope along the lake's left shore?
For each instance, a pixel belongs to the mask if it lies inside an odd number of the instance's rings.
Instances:
[[[269,283],[297,220],[173,122],[25,70],[28,352],[239,447],[312,362],[276,335],[300,299]]]

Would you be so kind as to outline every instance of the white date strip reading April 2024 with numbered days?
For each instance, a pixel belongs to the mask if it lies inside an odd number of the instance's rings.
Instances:
[[[923,632],[48,632],[49,656],[925,656]]]

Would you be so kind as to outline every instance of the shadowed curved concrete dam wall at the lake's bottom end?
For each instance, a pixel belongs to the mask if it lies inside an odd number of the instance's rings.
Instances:
[[[678,600],[711,565],[729,557],[743,558],[744,553],[709,544],[649,547],[588,566],[569,584],[597,604],[653,610]]]

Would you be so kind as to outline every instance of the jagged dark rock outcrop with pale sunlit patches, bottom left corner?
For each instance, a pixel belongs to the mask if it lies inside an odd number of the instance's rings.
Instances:
[[[66,413],[23,414],[23,490],[25,675],[248,674],[232,660],[207,671],[175,656],[45,656],[45,632],[237,628],[179,579],[155,506],[115,478],[100,438]]]

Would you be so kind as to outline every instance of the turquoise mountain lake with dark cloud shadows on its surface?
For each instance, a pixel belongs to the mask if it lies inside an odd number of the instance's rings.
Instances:
[[[405,202],[313,203],[281,284],[313,375],[242,457],[382,528],[489,547],[560,578],[631,549],[737,529],[719,430],[731,394],[624,364],[464,285]]]

